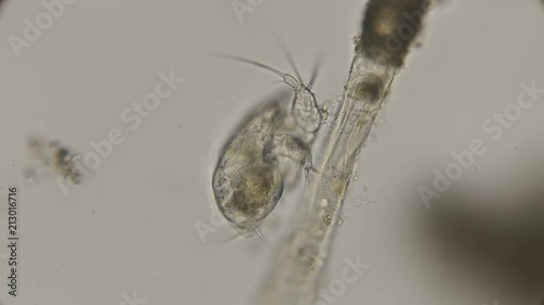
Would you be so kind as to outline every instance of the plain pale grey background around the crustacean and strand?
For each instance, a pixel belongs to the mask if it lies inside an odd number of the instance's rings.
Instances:
[[[16,185],[21,268],[13,298],[4,289],[7,264],[0,264],[1,302],[118,305],[123,293],[137,291],[146,304],[250,304],[273,253],[258,239],[225,244],[235,234],[228,226],[205,243],[195,224],[210,224],[211,173],[224,139],[279,85],[270,74],[207,52],[290,71],[275,31],[306,78],[324,53],[316,86],[323,101],[341,93],[363,3],[264,0],[240,22],[231,1],[78,0],[16,59],[8,37],[21,37],[24,18],[44,8],[7,1],[0,12],[0,244],[7,186]],[[359,255],[371,268],[335,304],[539,304],[542,287],[504,262],[531,214],[526,203],[540,202],[544,98],[499,141],[481,124],[515,102],[521,82],[544,87],[542,29],[544,8],[535,0],[450,1],[434,11],[361,154],[323,281],[339,277],[345,257]],[[171,69],[185,82],[129,130],[122,110]],[[89,141],[111,128],[126,140],[67,198],[54,177],[25,183],[28,135],[40,131],[86,153]],[[450,152],[473,139],[489,149],[477,169],[454,182],[444,196],[453,203],[425,208],[418,186],[429,186],[432,170],[443,170]],[[287,193],[262,227],[272,247],[296,199],[297,192]],[[357,209],[366,199],[372,203]],[[435,215],[457,202],[450,207],[461,216],[452,223],[484,224],[483,240],[493,245],[467,242],[457,229],[440,233]]]

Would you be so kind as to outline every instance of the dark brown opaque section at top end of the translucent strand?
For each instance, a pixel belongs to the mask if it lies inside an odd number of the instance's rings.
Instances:
[[[430,0],[370,1],[362,21],[364,55],[386,66],[403,66],[430,4]]]

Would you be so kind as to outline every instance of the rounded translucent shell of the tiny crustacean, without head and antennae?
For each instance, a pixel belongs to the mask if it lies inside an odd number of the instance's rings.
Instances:
[[[242,234],[252,233],[282,196],[283,177],[272,152],[287,103],[282,92],[254,111],[227,141],[215,167],[218,207]]]

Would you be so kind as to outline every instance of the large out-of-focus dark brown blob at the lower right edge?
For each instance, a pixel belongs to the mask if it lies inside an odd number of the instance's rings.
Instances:
[[[419,203],[421,204],[421,203]],[[544,193],[528,191],[515,202],[468,190],[446,192],[421,223],[423,236],[447,262],[472,280],[508,293],[542,293],[544,283]]]

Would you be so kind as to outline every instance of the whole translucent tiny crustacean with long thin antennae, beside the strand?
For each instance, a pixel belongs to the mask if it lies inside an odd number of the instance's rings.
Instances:
[[[295,91],[290,98],[283,90],[255,109],[226,141],[213,173],[213,194],[223,216],[242,236],[255,232],[263,239],[258,227],[276,206],[287,175],[302,171],[310,178],[310,145],[327,113],[311,91],[317,69],[305,85],[290,58],[296,78],[256,61],[223,56],[272,72]]]

